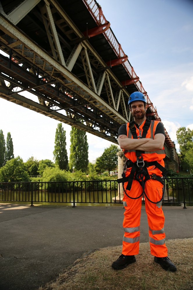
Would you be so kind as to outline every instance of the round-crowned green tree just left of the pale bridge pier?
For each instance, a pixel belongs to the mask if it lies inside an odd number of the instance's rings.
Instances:
[[[100,173],[108,170],[114,170],[118,166],[118,158],[116,153],[121,149],[117,145],[111,144],[108,148],[104,150],[102,155],[96,159],[96,170]]]

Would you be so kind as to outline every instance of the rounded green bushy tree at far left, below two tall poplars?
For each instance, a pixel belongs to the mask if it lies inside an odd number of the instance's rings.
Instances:
[[[29,174],[26,172],[25,165],[20,156],[8,160],[6,164],[0,168],[0,181],[1,182],[30,181]]]

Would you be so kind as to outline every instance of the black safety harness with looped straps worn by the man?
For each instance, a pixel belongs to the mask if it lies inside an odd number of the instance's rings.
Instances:
[[[146,135],[147,135],[147,132],[149,130],[150,125],[151,125],[151,121],[149,119],[146,119],[144,126],[143,126],[142,136],[137,137],[136,127],[135,127],[134,121],[131,121],[129,123],[129,128],[130,128],[130,131],[132,133],[133,139],[146,138]],[[136,162],[132,162],[129,159],[126,160],[125,165],[123,167],[123,173],[121,174],[122,178],[117,179],[117,182],[118,183],[122,182],[123,190],[129,198],[137,199],[137,198],[140,198],[144,194],[150,202],[157,204],[157,203],[161,202],[163,197],[164,197],[165,178],[167,179],[167,177],[166,177],[167,170],[162,165],[160,165],[160,163],[158,163],[157,161],[150,161],[150,162],[148,162],[146,160],[144,161],[143,157],[141,156],[142,153],[145,153],[145,152],[141,151],[141,150],[136,150],[136,156],[137,156]],[[150,174],[150,175],[148,174],[147,167],[153,166],[153,165],[155,167],[157,167],[162,172],[163,179],[160,176],[156,175],[155,173]],[[129,175],[129,177],[125,177],[125,172],[127,171],[127,168],[130,168],[130,167],[132,167],[130,175]],[[139,181],[139,183],[142,187],[141,195],[137,196],[136,198],[132,198],[131,196],[129,196],[124,188],[124,183],[128,182],[126,190],[130,191],[131,186],[132,186],[132,182],[134,179]],[[152,200],[150,200],[145,193],[145,183],[148,179],[154,179],[154,180],[160,181],[163,184],[162,198],[157,202],[153,202]]]

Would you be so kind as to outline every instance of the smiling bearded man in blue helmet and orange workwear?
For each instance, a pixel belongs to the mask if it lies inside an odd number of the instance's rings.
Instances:
[[[164,169],[164,126],[146,119],[147,102],[143,93],[133,92],[128,101],[134,120],[118,131],[118,143],[127,161],[123,170],[123,205],[125,207],[123,249],[112,268],[123,269],[136,261],[139,253],[141,197],[144,193],[149,226],[150,253],[164,270],[175,272],[176,266],[167,257],[162,211],[161,179]],[[164,174],[164,173],[163,173]]]

